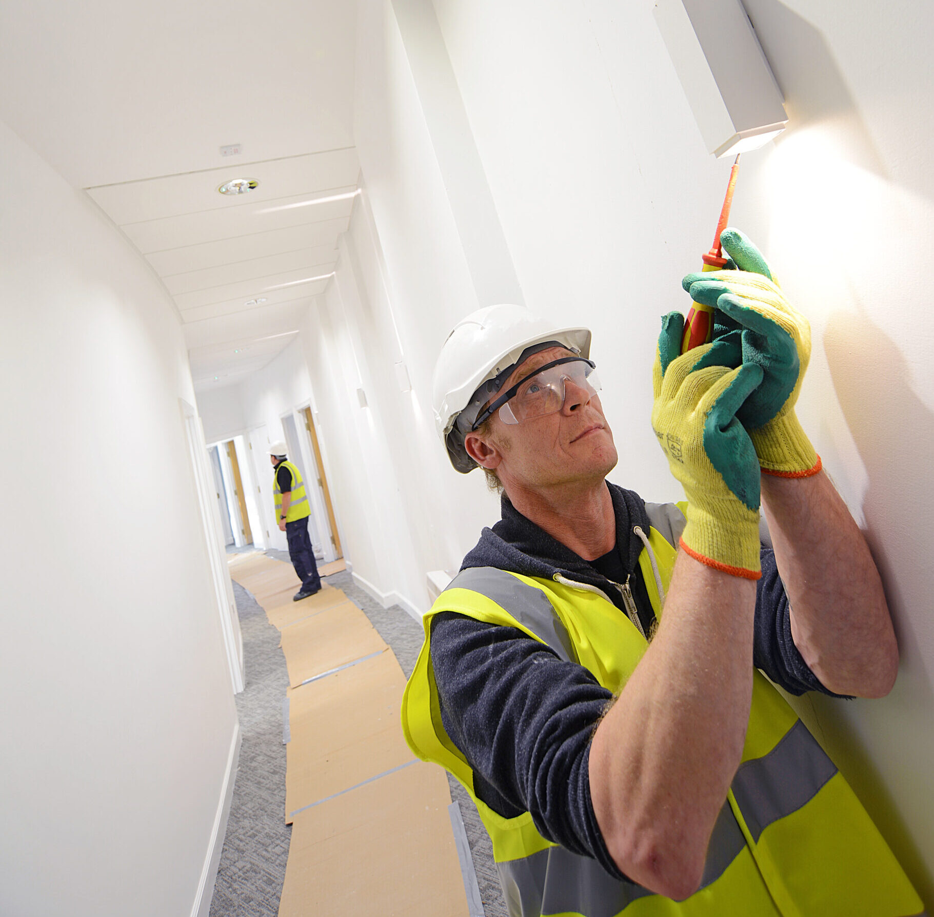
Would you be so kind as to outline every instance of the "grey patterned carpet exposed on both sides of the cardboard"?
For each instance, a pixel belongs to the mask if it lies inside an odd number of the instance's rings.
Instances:
[[[266,553],[289,562],[288,552]],[[411,675],[421,649],[421,624],[397,605],[380,607],[347,572],[335,573],[327,581],[343,589],[362,609],[396,654],[405,676]],[[233,592],[247,669],[247,686],[236,698],[243,746],[210,917],[275,917],[291,831],[283,824],[286,752],[282,744],[282,698],[289,679],[278,646],[278,631],[267,623],[265,613],[247,590],[234,583]],[[447,782],[451,798],[460,803],[485,915],[507,917],[487,831],[470,795],[449,774]]]

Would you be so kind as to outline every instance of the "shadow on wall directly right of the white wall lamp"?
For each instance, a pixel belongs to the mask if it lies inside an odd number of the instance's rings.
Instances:
[[[849,162],[890,179],[821,32],[779,0],[743,0],[743,6],[785,94],[786,135],[815,125],[832,126]],[[776,141],[781,142],[782,138]]]

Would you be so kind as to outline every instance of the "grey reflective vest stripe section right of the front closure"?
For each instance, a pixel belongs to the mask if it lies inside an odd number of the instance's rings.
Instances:
[[[765,756],[740,765],[730,789],[753,840],[772,822],[807,805],[837,773],[799,720]]]

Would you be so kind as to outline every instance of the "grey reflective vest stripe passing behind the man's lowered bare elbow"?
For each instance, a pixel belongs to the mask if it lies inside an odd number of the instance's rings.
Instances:
[[[701,888],[719,879],[744,846],[743,832],[728,803],[714,825]],[[614,879],[596,860],[563,847],[496,866],[511,917],[565,913],[616,917],[638,898],[655,894],[635,882]]]

